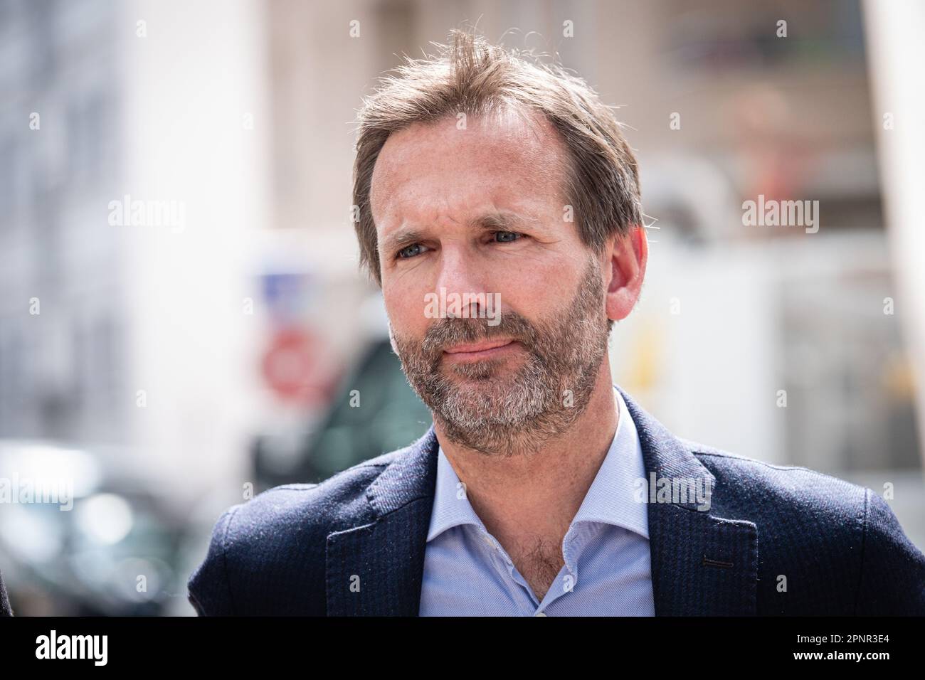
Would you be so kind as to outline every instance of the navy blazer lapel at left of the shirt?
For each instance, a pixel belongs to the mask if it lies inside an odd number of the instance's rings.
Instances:
[[[366,490],[376,520],[328,535],[329,616],[417,616],[437,452],[431,426]]]

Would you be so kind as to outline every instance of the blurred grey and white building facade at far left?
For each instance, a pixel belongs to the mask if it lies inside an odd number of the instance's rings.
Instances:
[[[215,6],[0,7],[0,436],[92,448],[189,501],[240,476],[251,429],[260,5],[223,9],[202,53]]]

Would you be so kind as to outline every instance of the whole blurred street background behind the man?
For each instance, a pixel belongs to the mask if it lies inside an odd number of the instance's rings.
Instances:
[[[353,119],[472,25],[621,106],[651,229],[614,380],[681,437],[886,494],[925,548],[925,4],[0,0],[17,615],[192,614],[229,505],[429,427],[357,268]],[[759,195],[818,231],[746,226]],[[17,498],[54,480],[69,510]]]

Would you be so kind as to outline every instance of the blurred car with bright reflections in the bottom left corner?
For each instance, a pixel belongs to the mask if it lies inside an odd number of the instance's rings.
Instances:
[[[157,615],[182,587],[183,517],[89,451],[0,440],[0,560],[16,615]]]

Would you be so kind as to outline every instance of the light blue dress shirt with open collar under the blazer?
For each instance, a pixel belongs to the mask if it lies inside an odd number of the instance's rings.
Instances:
[[[646,467],[633,418],[620,391],[613,392],[617,431],[562,539],[565,565],[541,602],[487,532],[439,449],[419,615],[655,615],[648,510],[634,498]]]

